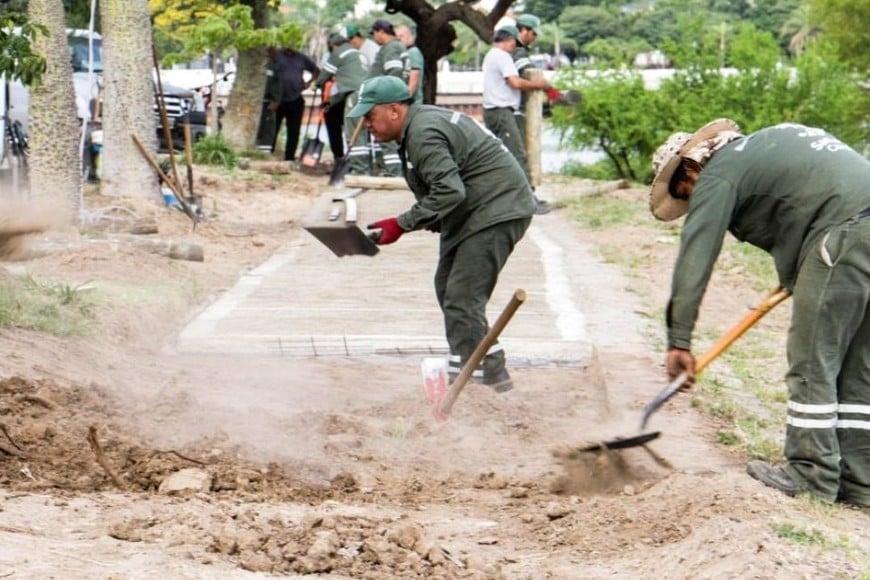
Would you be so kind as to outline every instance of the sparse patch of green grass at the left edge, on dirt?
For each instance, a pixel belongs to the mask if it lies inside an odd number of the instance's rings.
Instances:
[[[96,296],[86,286],[31,276],[0,284],[0,327],[85,336],[96,322]]]

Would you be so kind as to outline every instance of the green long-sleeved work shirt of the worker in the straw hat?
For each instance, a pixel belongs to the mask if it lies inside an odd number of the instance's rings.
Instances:
[[[870,207],[870,161],[822,129],[782,124],[704,166],[689,198],[668,304],[668,345],[688,349],[725,232],[768,252],[792,289],[825,232]]]

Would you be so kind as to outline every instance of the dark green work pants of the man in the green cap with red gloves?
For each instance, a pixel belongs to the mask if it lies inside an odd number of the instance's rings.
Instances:
[[[486,305],[499,272],[522,239],[531,218],[495,224],[462,240],[441,255],[435,270],[435,296],[444,314],[444,328],[451,356],[461,365],[489,331]],[[483,361],[484,375],[504,368],[505,355],[497,343]]]

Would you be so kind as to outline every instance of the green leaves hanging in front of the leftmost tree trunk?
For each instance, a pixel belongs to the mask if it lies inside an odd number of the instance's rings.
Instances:
[[[27,22],[23,13],[0,15],[0,77],[20,80],[36,87],[45,74],[45,59],[33,52],[33,42],[39,35],[48,36],[41,24]]]

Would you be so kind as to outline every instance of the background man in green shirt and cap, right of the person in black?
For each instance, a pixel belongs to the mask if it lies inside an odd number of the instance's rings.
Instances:
[[[351,34],[352,38],[362,39],[359,29],[355,26],[348,26],[343,30],[346,34]],[[333,33],[329,41],[333,49],[317,77],[316,84],[318,87],[323,87],[329,79],[335,80],[338,90],[330,98],[329,107],[330,109],[340,107],[344,112],[344,133],[348,142],[348,173],[368,175],[371,171],[368,137],[358,135],[355,143],[350,142],[356,123],[347,117],[347,113],[356,104],[359,86],[368,76],[369,65],[363,54],[341,33]]]

